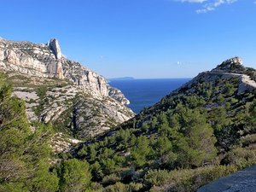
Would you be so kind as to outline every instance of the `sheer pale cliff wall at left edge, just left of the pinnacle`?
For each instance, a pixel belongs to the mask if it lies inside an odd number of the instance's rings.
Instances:
[[[60,76],[55,54],[46,44],[0,39],[0,68],[5,72],[16,71],[44,78]]]

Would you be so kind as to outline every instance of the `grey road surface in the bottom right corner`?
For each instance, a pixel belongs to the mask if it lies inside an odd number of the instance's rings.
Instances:
[[[255,192],[256,166],[248,167],[227,177],[220,177],[197,192]]]

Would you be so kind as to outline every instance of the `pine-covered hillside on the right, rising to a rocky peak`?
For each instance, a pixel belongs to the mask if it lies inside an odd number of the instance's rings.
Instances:
[[[254,165],[255,75],[238,57],[224,61],[80,144],[73,158],[90,163],[103,191],[195,191]]]

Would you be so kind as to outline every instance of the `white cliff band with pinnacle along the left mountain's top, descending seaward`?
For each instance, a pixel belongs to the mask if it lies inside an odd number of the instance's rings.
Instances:
[[[101,75],[79,62],[64,58],[55,38],[49,45],[0,39],[0,69],[42,78],[67,79],[98,98],[111,96],[122,104],[129,104],[125,96],[109,86]]]

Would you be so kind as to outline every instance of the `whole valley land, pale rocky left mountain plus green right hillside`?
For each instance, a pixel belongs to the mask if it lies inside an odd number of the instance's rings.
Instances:
[[[1,39],[0,58],[0,191],[192,192],[256,164],[256,70],[239,57],[137,114],[56,39]]]

